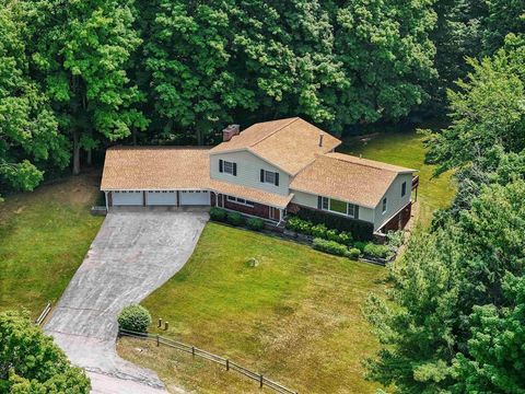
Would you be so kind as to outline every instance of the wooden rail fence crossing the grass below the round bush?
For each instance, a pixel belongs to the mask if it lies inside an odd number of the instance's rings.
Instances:
[[[174,349],[178,349],[180,351],[185,351],[187,354],[190,354],[192,357],[200,357],[206,360],[215,362],[218,364],[221,364],[225,367],[226,371],[235,371],[238,372],[254,381],[256,381],[259,384],[259,387],[267,386],[268,389],[271,389],[278,393],[282,394],[298,394],[298,392],[290,390],[288,387],[284,387],[282,384],[273,382],[269,380],[268,378],[264,376],[260,373],[254,372],[248,370],[247,368],[244,368],[230,359],[210,354],[206,350],[199,349],[195,346],[186,345],[173,339],[164,338],[160,335],[153,335],[153,334],[144,334],[144,333],[137,333],[128,329],[119,329],[119,335],[120,336],[129,336],[133,338],[141,338],[141,339],[147,339],[147,340],[154,340],[156,341],[156,346],[168,346]]]

